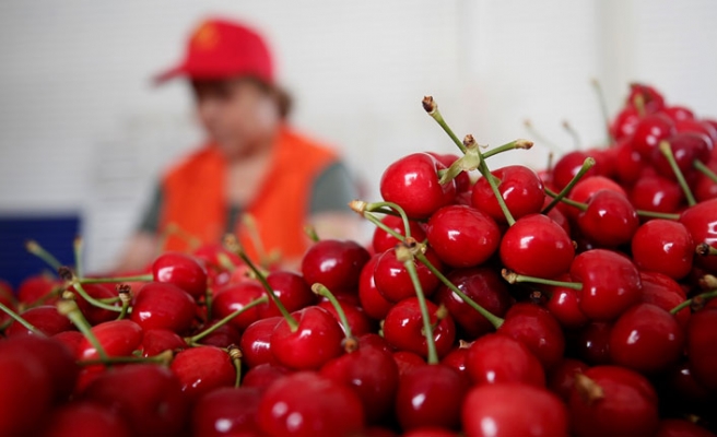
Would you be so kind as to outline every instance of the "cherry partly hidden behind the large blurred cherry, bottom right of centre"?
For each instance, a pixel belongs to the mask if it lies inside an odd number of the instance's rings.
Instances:
[[[468,349],[466,370],[474,385],[521,382],[545,386],[540,361],[522,343],[507,335],[485,334]]]

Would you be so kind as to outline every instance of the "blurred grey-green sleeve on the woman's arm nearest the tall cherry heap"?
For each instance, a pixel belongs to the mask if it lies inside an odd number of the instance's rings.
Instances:
[[[351,211],[349,202],[358,198],[358,189],[349,168],[337,162],[328,166],[314,181],[309,213]]]

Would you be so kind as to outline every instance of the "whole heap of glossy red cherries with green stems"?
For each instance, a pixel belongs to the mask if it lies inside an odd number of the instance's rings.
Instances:
[[[491,172],[531,143],[423,106],[461,156],[352,202],[368,248],[317,241],[299,274],[230,236],[0,287],[0,435],[713,435],[717,122],[633,85],[612,144]]]

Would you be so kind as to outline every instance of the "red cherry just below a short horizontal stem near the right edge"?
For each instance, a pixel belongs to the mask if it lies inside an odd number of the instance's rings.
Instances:
[[[632,240],[633,261],[642,270],[680,280],[692,270],[694,241],[687,228],[669,220],[643,224]]]

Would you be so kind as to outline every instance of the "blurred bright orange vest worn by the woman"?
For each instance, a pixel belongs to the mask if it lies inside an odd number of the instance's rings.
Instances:
[[[272,149],[269,170],[254,200],[243,205],[254,216],[267,253],[279,250],[283,259],[304,255],[310,240],[304,234],[316,177],[337,161],[326,146],[282,127]],[[220,243],[226,232],[226,161],[219,147],[208,144],[171,168],[162,181],[160,232],[175,224],[201,243]],[[235,234],[256,260],[257,250],[237,221]],[[165,250],[187,251],[185,238],[171,234]]]

